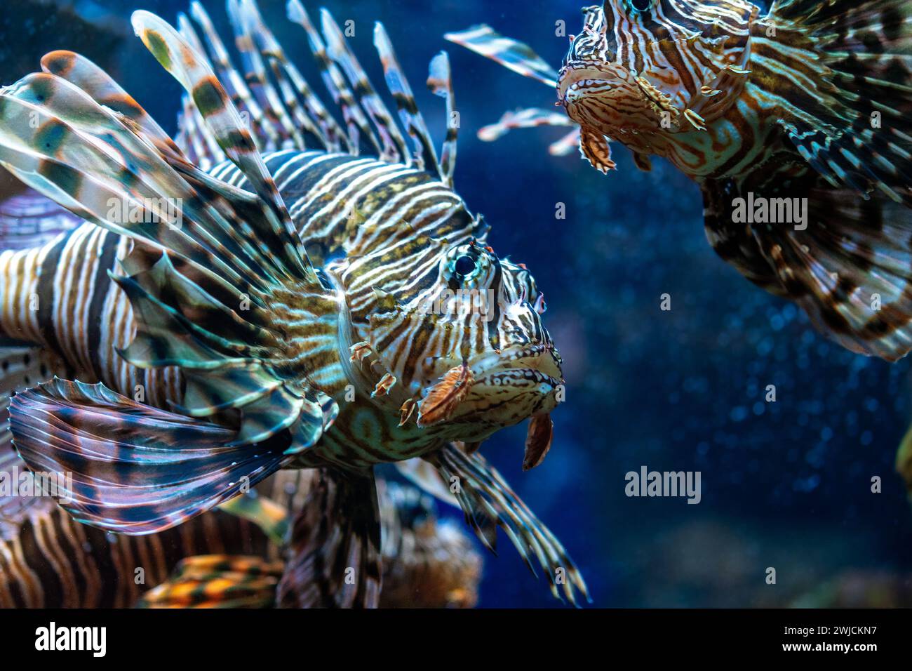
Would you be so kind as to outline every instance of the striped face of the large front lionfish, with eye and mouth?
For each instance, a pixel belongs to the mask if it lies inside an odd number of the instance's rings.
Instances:
[[[402,372],[421,396],[420,426],[447,423],[453,439],[477,442],[533,416],[530,435],[550,445],[561,358],[542,323],[544,295],[522,264],[475,240],[447,246],[436,281],[409,309],[424,317],[409,348],[418,365]]]

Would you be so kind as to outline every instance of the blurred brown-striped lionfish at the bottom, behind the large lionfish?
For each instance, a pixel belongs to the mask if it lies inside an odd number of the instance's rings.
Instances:
[[[15,468],[7,452],[0,467]],[[79,524],[52,498],[16,501],[0,518],[0,608],[268,608],[285,570],[293,511],[318,473],[277,473],[158,534],[115,535]],[[427,494],[378,478],[381,608],[472,607],[481,557]],[[14,523],[15,522],[15,523]]]

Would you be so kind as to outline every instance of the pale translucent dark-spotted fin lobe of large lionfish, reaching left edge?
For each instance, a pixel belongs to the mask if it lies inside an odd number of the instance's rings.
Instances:
[[[237,222],[226,221],[204,201],[129,121],[65,79],[28,75],[6,89],[2,100],[0,157],[22,181],[76,215],[161,251],[205,259],[205,265],[197,264],[202,275],[219,283],[222,276],[242,290],[260,282],[253,267],[275,267],[270,259],[281,246],[268,244],[265,225],[256,231],[261,253],[255,260],[241,254]],[[124,206],[118,212],[112,202]],[[140,213],[139,221],[122,216],[128,210]]]

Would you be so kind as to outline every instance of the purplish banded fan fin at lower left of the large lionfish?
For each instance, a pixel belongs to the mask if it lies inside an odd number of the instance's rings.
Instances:
[[[231,446],[231,429],[136,403],[101,383],[55,378],[17,393],[10,422],[30,468],[72,474],[60,505],[81,522],[130,535],[181,524],[287,461],[281,441]]]

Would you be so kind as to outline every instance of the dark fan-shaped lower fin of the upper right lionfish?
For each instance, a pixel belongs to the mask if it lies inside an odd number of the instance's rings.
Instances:
[[[836,190],[811,174],[810,185],[756,189],[771,209],[793,212],[806,198],[803,224],[733,223],[736,199],[745,212],[756,211],[750,194],[731,183],[704,183],[710,244],[755,284],[794,299],[840,345],[896,361],[912,351],[909,210],[884,196],[864,200]]]

